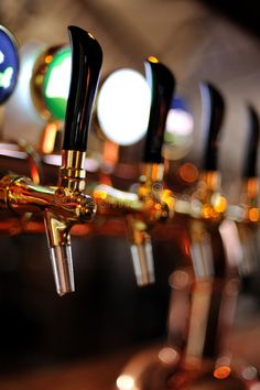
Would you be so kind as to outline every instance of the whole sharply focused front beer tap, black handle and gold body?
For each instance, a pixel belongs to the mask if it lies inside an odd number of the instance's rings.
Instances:
[[[66,108],[62,166],[55,187],[35,185],[15,174],[0,180],[0,208],[19,214],[42,213],[56,290],[74,291],[69,230],[91,220],[96,205],[86,194],[85,155],[93,104],[99,82],[102,51],[96,39],[77,26],[68,28],[72,79]]]

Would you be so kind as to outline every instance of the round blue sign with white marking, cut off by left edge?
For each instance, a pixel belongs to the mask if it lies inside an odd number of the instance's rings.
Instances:
[[[13,35],[0,25],[0,105],[12,94],[19,73],[18,44]]]

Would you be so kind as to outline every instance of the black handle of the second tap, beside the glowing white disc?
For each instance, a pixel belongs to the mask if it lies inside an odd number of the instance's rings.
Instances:
[[[144,144],[143,162],[161,163],[165,122],[175,88],[172,72],[156,58],[144,62],[147,80],[151,88],[151,108]]]

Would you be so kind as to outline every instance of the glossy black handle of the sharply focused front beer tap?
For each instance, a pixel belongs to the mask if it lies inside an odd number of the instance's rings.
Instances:
[[[95,37],[68,26],[72,47],[72,79],[67,100],[63,149],[84,152],[102,64],[102,50]]]

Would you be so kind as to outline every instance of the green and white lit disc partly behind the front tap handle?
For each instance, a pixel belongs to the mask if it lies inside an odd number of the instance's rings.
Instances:
[[[71,48],[58,51],[44,75],[42,94],[46,108],[57,120],[64,120],[72,73]]]

